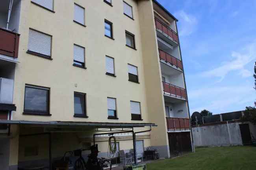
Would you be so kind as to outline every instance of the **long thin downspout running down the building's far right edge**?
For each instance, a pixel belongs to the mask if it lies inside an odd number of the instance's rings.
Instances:
[[[177,19],[175,19],[175,27],[176,27],[176,32],[178,36],[178,43],[179,43],[179,48],[180,48],[180,37],[178,33],[178,27],[177,27]],[[185,79],[185,70],[184,70],[184,64],[182,61],[182,54],[181,54],[181,48],[180,48],[180,60],[182,62],[182,69],[183,69],[183,79],[185,83],[185,89],[186,89],[186,97],[187,97],[187,85],[186,85],[186,79]],[[190,119],[190,111],[189,111],[189,104],[188,104],[188,97],[187,97],[187,108],[188,108],[188,115],[189,115],[189,129],[190,129],[190,134],[191,134],[191,144],[192,144],[192,152],[195,152],[195,147],[194,147],[194,140],[193,140],[193,134],[192,134],[192,128],[191,128],[191,119]]]

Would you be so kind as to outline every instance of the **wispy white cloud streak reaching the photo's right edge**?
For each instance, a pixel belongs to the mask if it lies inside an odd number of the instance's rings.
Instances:
[[[242,52],[232,52],[232,59],[230,61],[223,62],[221,66],[204,71],[201,73],[202,77],[219,77],[222,81],[230,71],[239,71],[239,75],[242,77],[248,77],[252,75],[250,71],[245,69],[245,66],[252,62],[256,58],[256,43],[247,45]]]

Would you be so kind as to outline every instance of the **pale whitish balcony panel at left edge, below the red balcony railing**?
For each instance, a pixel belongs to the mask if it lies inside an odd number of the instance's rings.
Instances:
[[[13,103],[13,80],[1,78],[0,84],[0,102]]]

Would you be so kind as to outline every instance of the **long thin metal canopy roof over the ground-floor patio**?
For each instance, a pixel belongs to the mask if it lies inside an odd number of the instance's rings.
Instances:
[[[154,123],[118,123],[118,122],[70,122],[70,121],[18,121],[0,120],[0,124],[34,124],[34,125],[61,125],[61,126],[90,126],[95,128],[136,128],[157,126]]]

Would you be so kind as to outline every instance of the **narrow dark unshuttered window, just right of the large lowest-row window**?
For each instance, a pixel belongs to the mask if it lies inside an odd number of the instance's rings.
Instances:
[[[85,94],[74,92],[74,117],[87,117]]]

